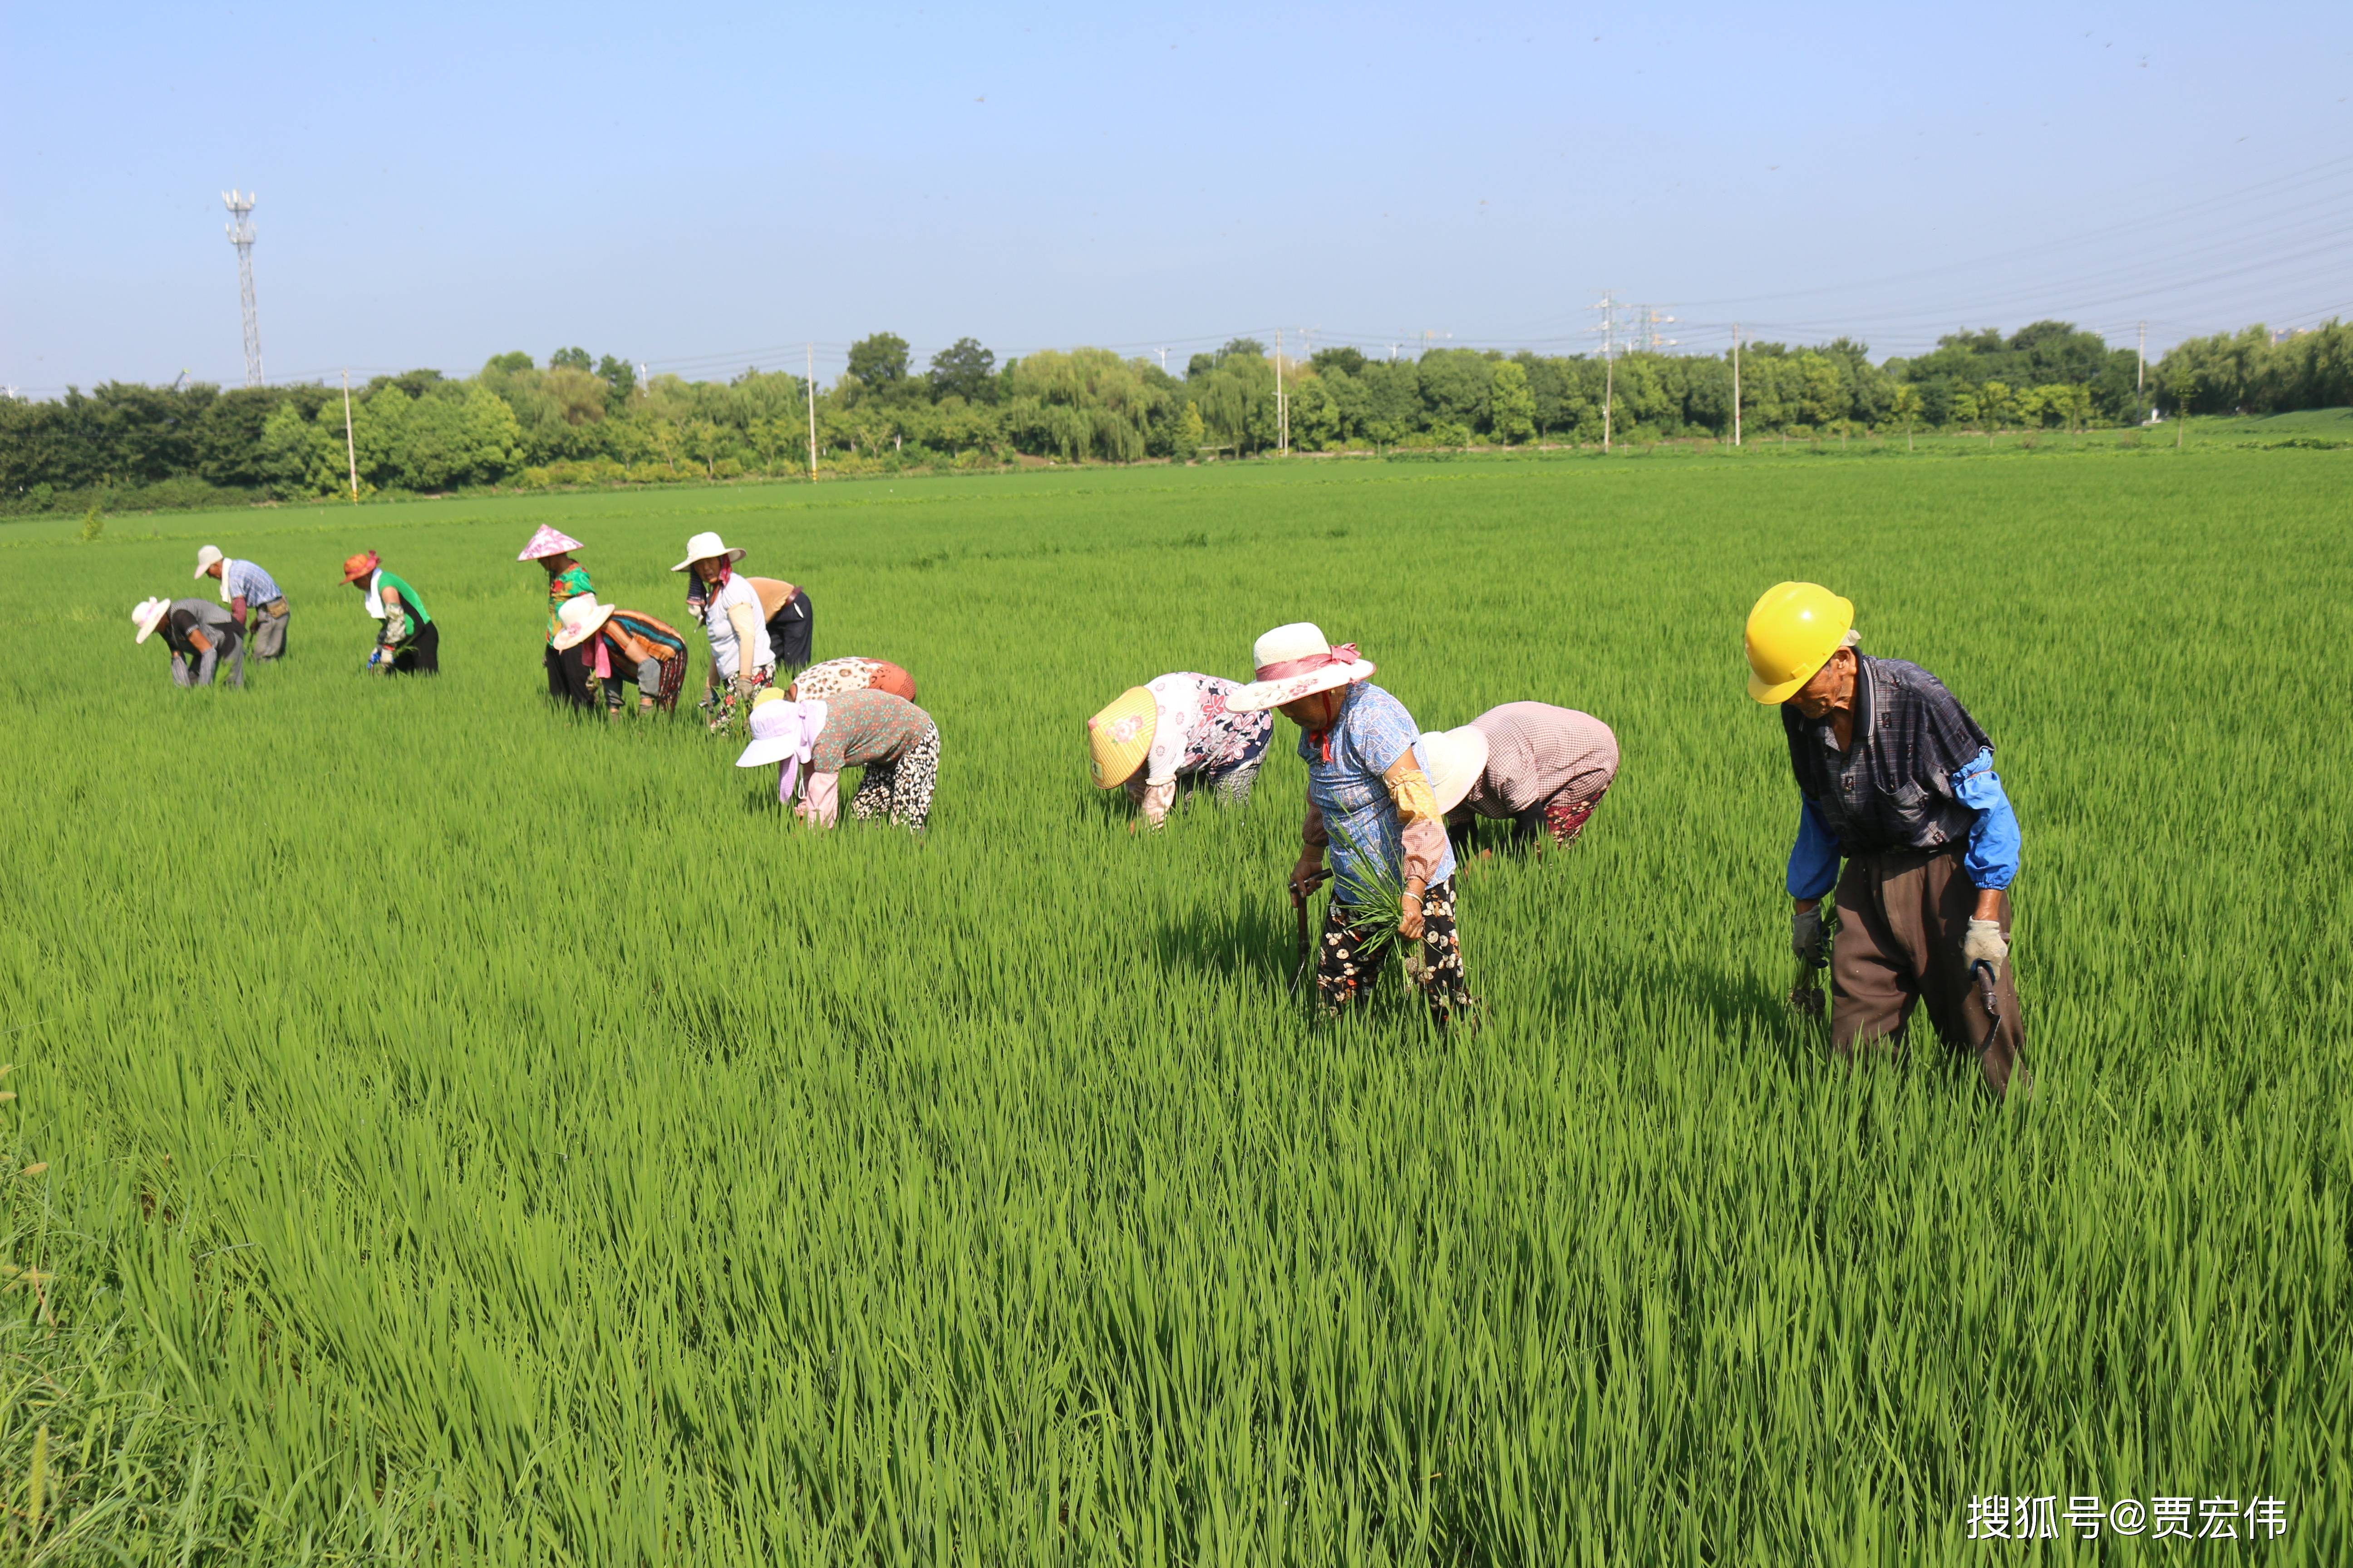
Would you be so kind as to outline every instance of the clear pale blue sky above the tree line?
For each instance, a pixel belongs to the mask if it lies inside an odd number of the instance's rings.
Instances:
[[[0,383],[2353,313],[2353,5],[35,5]]]

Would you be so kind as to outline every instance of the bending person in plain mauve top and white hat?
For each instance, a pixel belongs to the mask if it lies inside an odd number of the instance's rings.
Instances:
[[[1609,726],[1551,703],[1504,703],[1445,731],[1442,745],[1421,741],[1447,820],[1461,827],[1473,816],[1504,818],[1518,844],[1541,844],[1537,835],[1574,844],[1617,778]]]

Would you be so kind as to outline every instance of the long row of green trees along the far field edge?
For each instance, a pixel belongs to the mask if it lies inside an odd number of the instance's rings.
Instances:
[[[2129,348],[2068,322],[1960,331],[1932,353],[1873,362],[1864,343],[1744,343],[1732,353],[1537,355],[1433,348],[1384,360],[1325,348],[1280,367],[1254,339],[1198,353],[1172,374],[1106,348],[998,362],[962,339],[918,367],[880,331],[814,390],[798,374],[727,381],[652,376],[560,348],[539,364],[504,353],[473,376],[419,369],[351,393],[329,386],[155,388],[0,400],[0,508],[45,510],[89,491],[151,505],[221,491],[433,494],[496,484],[593,484],[993,468],[1021,458],[1247,458],[1287,421],[1301,451],[1395,447],[1819,440],[1894,430],[2089,428],[2148,409],[2285,411],[2353,404],[2353,327],[2275,341],[2261,327],[2193,339],[2151,374]],[[1278,407],[1278,374],[1282,407]],[[1607,414],[1605,414],[1607,404]]]

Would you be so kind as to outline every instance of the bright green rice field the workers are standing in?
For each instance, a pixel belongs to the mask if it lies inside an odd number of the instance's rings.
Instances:
[[[915,672],[932,832],[551,710],[539,522],[673,621],[699,529],[805,583]],[[2151,449],[0,527],[9,1561],[2344,1563],[2348,524],[2344,454]],[[132,646],[198,543],[294,602],[245,691]],[[438,682],[360,677],[360,548]],[[1784,1001],[1779,578],[2000,748],[2031,1105]],[[1287,994],[1287,724],[1240,813],[1087,785],[1294,618],[1424,729],[1619,733],[1572,853],[1461,875],[1478,1034]],[[2177,1495],[2285,1530],[2066,1519]]]

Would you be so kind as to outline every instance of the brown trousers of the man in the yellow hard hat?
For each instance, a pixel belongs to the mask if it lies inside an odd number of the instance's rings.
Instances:
[[[1847,860],[1838,879],[1838,938],[1831,943],[1831,1046],[1840,1058],[1852,1058],[1857,1044],[1901,1044],[1913,1006],[1927,1001],[1927,1018],[1944,1044],[1977,1053],[1995,1095],[2009,1088],[2026,1048],[2026,1025],[2012,966],[2002,964],[1993,985],[2000,1025],[1986,1044],[1984,987],[1960,957],[1974,907],[1977,889],[1955,851]],[[2007,938],[2007,893],[2000,922]]]

